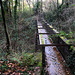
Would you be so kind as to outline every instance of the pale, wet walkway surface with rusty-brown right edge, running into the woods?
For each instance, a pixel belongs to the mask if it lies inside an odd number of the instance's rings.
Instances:
[[[47,33],[42,23],[37,19],[38,33]],[[54,29],[55,32],[57,32]],[[57,32],[58,33],[58,32]],[[52,44],[52,39],[49,39],[47,34],[39,34],[40,45]],[[65,61],[59,53],[56,46],[45,46],[45,71],[48,75],[71,75],[67,68],[65,68]],[[44,62],[43,62],[44,63]]]

